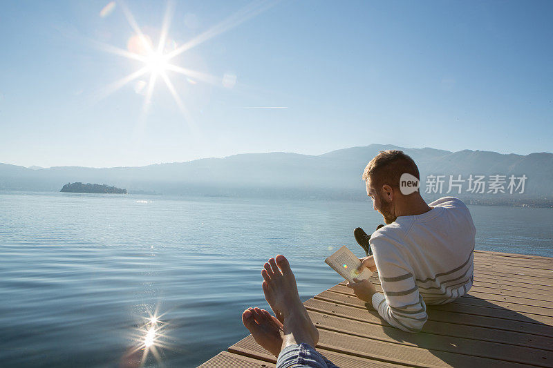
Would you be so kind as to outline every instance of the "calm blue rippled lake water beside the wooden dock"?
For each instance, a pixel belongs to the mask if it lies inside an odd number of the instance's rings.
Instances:
[[[553,209],[470,211],[476,249],[553,257]],[[381,222],[368,201],[0,193],[0,366],[132,367],[153,342],[146,367],[196,367],[267,308],[265,260],[286,255],[306,300],[341,281],[324,258],[364,255],[353,229]]]

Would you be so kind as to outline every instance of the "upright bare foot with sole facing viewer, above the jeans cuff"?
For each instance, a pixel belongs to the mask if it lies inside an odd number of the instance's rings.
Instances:
[[[306,307],[299,300],[298,288],[290,263],[283,255],[277,255],[264,264],[263,293],[274,315],[284,325],[285,343],[294,340],[306,342],[315,347],[319,341],[319,331],[311,322]],[[299,341],[301,340],[301,341]]]

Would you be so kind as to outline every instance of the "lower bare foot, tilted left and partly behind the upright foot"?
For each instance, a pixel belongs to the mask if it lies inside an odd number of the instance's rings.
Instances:
[[[279,356],[282,347],[284,330],[282,323],[265,309],[248,308],[242,313],[242,323],[250,330],[256,342]]]

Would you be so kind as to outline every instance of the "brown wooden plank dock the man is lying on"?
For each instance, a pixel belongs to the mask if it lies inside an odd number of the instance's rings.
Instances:
[[[553,258],[475,251],[468,295],[429,306],[420,333],[391,327],[344,283],[303,304],[319,329],[317,351],[342,368],[553,367]],[[276,361],[250,335],[200,367]]]

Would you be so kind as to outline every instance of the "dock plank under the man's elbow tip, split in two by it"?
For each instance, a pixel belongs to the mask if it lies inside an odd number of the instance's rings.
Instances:
[[[326,316],[337,316],[362,323],[390,327],[388,322],[382,319],[376,311],[360,309],[346,304],[310,299],[306,302],[306,308],[308,311],[324,313]],[[467,318],[467,316],[450,318],[453,313],[441,311],[431,311],[430,314],[429,320],[422,328],[424,333],[501,342],[508,345],[553,351],[553,340],[550,334],[551,328],[547,330],[539,327],[536,328],[538,325],[526,325],[529,327],[528,329],[521,329],[521,325],[514,321],[482,317]],[[541,335],[534,335],[532,331],[541,333]],[[547,334],[547,336],[543,336],[543,334]]]

